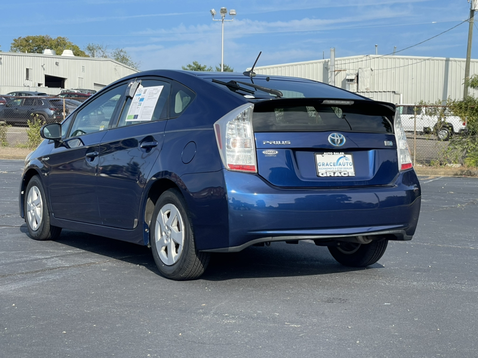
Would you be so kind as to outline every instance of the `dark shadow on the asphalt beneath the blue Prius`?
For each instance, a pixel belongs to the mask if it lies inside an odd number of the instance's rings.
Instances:
[[[26,226],[20,230],[26,232]],[[63,230],[55,240],[79,250],[114,260],[139,265],[160,274],[145,246],[102,236]],[[292,277],[352,272],[365,269],[381,269],[380,264],[367,268],[350,268],[337,263],[326,247],[318,247],[310,241],[299,244],[272,243],[270,247],[248,247],[238,253],[212,254],[202,280],[223,281],[237,278]]]

